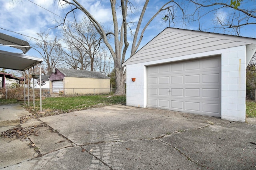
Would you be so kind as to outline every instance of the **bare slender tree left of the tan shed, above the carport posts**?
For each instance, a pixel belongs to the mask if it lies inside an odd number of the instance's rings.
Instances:
[[[58,43],[59,39],[57,38],[57,35],[55,35],[52,39],[49,37],[48,33],[44,32],[37,33],[37,35],[39,39],[36,40],[36,44],[33,48],[38,51],[46,63],[45,74],[50,75],[52,74],[52,69],[60,64],[60,43]]]

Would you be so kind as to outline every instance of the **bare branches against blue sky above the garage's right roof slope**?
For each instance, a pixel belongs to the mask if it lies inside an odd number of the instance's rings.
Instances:
[[[215,16],[214,27],[207,25],[206,28],[202,28],[201,26],[200,30],[213,29],[214,32],[222,31],[223,33],[240,35],[241,28],[256,24],[256,1],[254,0],[231,0],[231,3],[229,0],[226,3],[224,3],[225,1],[213,2],[211,0],[189,0],[189,2],[195,5],[194,13],[198,14],[198,18],[195,20],[204,20],[209,15]]]

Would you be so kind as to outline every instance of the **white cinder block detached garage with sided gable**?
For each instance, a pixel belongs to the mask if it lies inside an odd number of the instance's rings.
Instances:
[[[253,38],[166,28],[122,64],[126,104],[245,122],[246,66],[255,52]]]

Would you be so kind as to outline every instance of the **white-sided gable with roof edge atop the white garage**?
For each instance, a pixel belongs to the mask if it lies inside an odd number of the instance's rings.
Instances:
[[[254,38],[168,27],[126,60],[122,66],[241,45],[246,45],[246,64],[248,64],[256,52]]]

